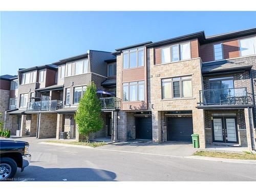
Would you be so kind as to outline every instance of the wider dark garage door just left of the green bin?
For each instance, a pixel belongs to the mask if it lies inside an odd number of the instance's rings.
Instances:
[[[168,141],[191,141],[193,134],[193,120],[191,117],[168,117],[167,139]]]

